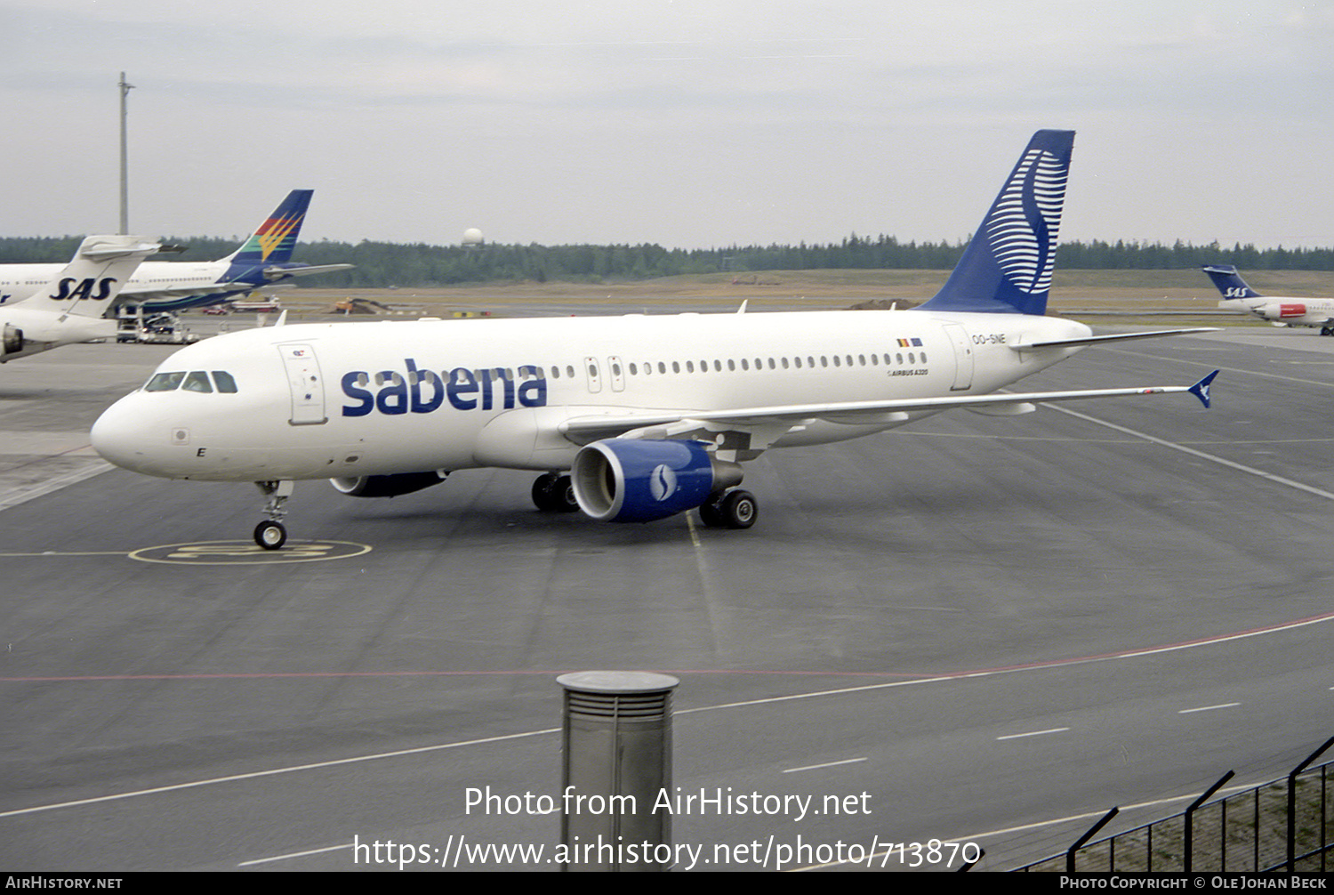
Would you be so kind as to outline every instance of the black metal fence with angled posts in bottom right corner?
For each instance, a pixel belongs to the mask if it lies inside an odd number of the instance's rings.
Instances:
[[[1018,871],[1327,871],[1334,864],[1334,762],[1309,767],[1334,738],[1285,779],[1206,802],[1229,771],[1182,814],[1086,842],[1117,808],[1065,854]]]

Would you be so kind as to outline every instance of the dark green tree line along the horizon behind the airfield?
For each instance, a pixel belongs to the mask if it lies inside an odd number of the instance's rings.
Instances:
[[[209,261],[225,257],[240,239],[163,237],[185,245],[161,260]],[[0,237],[0,264],[67,261],[79,236]],[[321,288],[384,288],[547,280],[600,283],[663,276],[808,269],[950,269],[964,243],[899,241],[894,236],[851,235],[840,243],[798,245],[730,245],[726,248],[663,248],[638,245],[427,245],[426,243],[299,243],[293,260],[307,264],[355,264],[312,277]],[[1171,245],[1118,240],[1071,241],[1057,247],[1059,269],[1187,269],[1203,264],[1235,264],[1242,271],[1334,269],[1334,248],[1257,248],[1218,243]]]

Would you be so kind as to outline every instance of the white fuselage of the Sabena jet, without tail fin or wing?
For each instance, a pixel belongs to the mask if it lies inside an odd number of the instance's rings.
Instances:
[[[224,371],[235,392],[141,389],[93,435],[116,464],[179,479],[568,470],[600,435],[595,419],[620,433],[702,407],[763,417],[783,405],[766,447],[839,441],[938,411],[832,403],[986,395],[1077,351],[1011,345],[1087,335],[1057,317],[903,311],[268,327],[160,368]],[[563,433],[587,417],[590,437]]]

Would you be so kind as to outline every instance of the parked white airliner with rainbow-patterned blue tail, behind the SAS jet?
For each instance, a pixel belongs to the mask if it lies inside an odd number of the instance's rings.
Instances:
[[[293,189],[240,248],[216,261],[148,261],[121,289],[123,301],[145,312],[183,311],[217,304],[292,277],[346,271],[351,264],[299,264],[291,260],[313,189]],[[0,304],[21,301],[43,287],[59,264],[0,264]]]

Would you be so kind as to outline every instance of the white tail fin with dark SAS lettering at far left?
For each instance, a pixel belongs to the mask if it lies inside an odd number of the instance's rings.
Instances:
[[[88,236],[51,283],[15,307],[100,317],[115,304],[139,263],[157,249],[157,243],[143,236]]]

